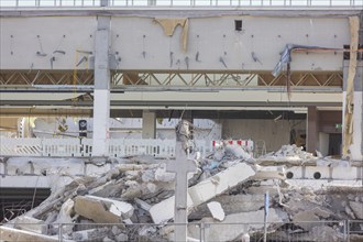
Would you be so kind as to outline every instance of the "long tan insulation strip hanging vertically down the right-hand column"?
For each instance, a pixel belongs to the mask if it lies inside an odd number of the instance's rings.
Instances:
[[[351,33],[351,50],[349,70],[346,78],[346,97],[344,106],[344,129],[343,129],[343,157],[348,157],[349,146],[352,144],[353,138],[353,109],[354,109],[354,78],[356,73],[356,55],[359,44],[360,20],[358,16],[349,18]]]

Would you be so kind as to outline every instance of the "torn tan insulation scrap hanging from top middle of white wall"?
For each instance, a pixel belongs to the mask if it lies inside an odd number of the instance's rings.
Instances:
[[[177,25],[183,28],[182,31],[182,50],[183,52],[187,52],[188,44],[188,29],[189,23],[187,18],[178,18],[178,19],[155,19],[155,22],[162,25],[164,30],[164,34],[166,36],[173,36],[175,29]]]

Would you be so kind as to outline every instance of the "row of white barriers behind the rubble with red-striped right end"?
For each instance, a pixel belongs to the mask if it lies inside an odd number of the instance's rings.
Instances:
[[[219,141],[194,140],[189,142],[193,151],[206,155],[213,151]],[[224,141],[221,141],[224,142]],[[253,148],[253,142],[227,141],[232,144]],[[11,139],[0,138],[0,156],[50,156],[50,157],[89,157],[92,156],[91,139]],[[175,140],[111,139],[109,156],[125,157],[132,155],[152,155],[156,158],[175,156]]]

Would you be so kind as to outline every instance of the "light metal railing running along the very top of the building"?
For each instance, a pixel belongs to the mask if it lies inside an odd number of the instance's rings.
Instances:
[[[1,8],[54,7],[304,7],[361,8],[363,0],[0,0]]]

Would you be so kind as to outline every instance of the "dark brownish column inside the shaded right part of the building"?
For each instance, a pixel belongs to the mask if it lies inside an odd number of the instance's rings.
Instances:
[[[306,151],[315,153],[318,144],[319,117],[317,107],[308,107]]]

